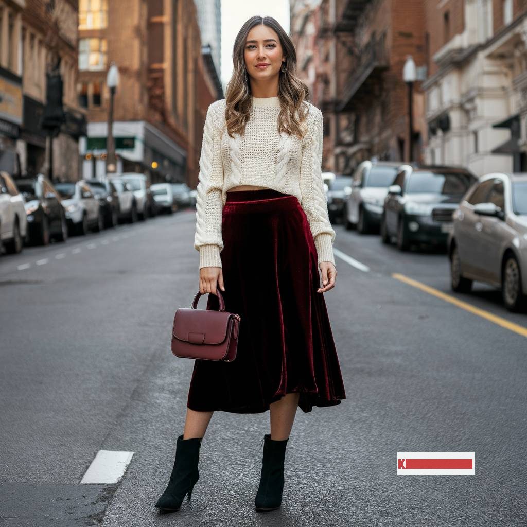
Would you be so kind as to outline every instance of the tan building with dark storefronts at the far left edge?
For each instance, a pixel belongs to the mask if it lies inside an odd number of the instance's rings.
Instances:
[[[53,177],[79,175],[79,137],[85,116],[75,92],[77,2],[0,0],[0,150],[18,154],[19,171],[47,173],[53,144]],[[41,128],[46,72],[59,65],[65,121],[51,143]],[[7,167],[6,167],[7,168]]]

